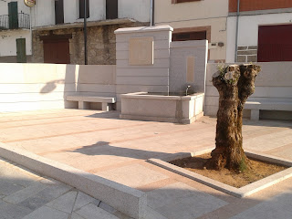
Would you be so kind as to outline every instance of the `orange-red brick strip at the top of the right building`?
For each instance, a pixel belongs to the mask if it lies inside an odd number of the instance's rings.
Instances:
[[[241,0],[240,11],[270,10],[292,7],[292,0]],[[229,12],[237,11],[237,0],[229,0]]]

